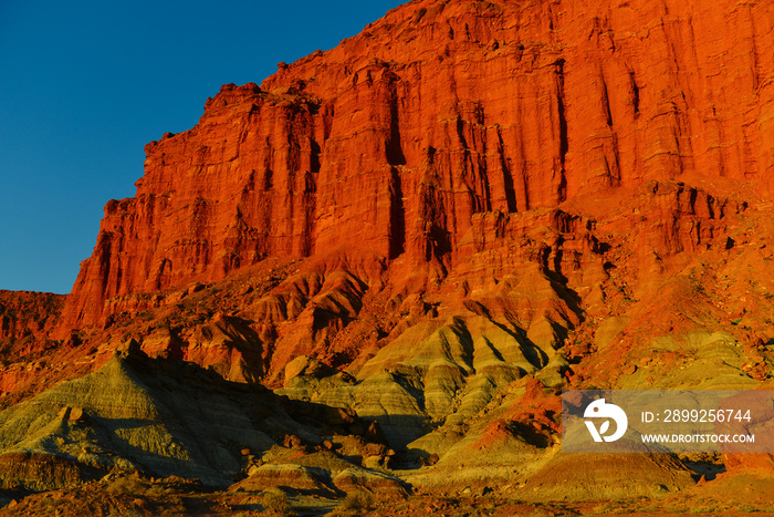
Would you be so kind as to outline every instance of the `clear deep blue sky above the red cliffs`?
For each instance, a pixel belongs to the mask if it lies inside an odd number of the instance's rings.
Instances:
[[[143,146],[400,0],[0,0],[0,289],[70,292]]]

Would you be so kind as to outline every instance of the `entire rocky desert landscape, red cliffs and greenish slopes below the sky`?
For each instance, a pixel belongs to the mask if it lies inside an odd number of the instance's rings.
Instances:
[[[774,3],[414,0],[145,152],[0,291],[0,515],[774,511],[772,454],[561,433],[774,387]]]

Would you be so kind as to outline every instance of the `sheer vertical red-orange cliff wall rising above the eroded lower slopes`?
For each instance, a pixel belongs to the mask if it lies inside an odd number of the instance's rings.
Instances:
[[[773,28],[768,2],[410,2],[260,86],[223,86],[197,126],[148,144],[60,332],[104,322],[109,298],[269,256],[346,249],[426,286],[489,231],[479,214],[650,179],[767,192]]]

